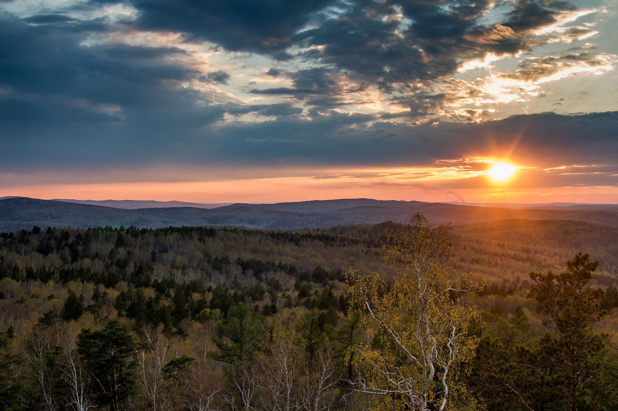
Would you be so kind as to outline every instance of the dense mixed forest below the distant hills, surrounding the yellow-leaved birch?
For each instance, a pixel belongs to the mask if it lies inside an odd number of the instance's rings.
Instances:
[[[482,285],[445,294],[453,312],[474,307],[458,330],[478,349],[449,374],[457,388],[442,409],[616,409],[618,228],[519,219],[451,228],[443,263],[455,276],[478,273]],[[375,297],[395,292],[392,233],[405,229],[0,233],[0,410],[412,409],[396,389],[358,389],[385,384],[367,370],[368,353],[398,372],[409,365],[387,325],[363,328],[370,316],[355,291],[379,273]],[[543,287],[562,284],[565,301],[572,290],[549,270],[577,276],[588,305],[551,311],[556,294]],[[578,334],[560,328],[564,318]],[[557,360],[569,338],[595,353],[577,370]]]

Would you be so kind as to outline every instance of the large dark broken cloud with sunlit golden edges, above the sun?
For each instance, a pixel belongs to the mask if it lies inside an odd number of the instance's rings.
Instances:
[[[407,117],[446,114],[470,120],[488,112],[445,109],[481,94],[482,85],[458,85],[448,80],[467,62],[483,61],[489,55],[517,56],[543,44],[570,42],[592,33],[591,28],[578,26],[538,35],[538,30],[559,23],[565,14],[578,12],[579,9],[564,1],[510,2],[504,6],[510,7],[510,11],[502,15],[501,23],[491,26],[480,23],[494,6],[490,0],[341,3],[338,12],[330,10],[329,14],[316,17],[314,28],[294,37],[294,43],[309,48],[298,57],[319,62],[323,67],[296,73],[271,69],[267,75],[285,75],[293,80],[294,87],[251,92],[290,95],[309,106],[329,109],[345,106],[349,104],[350,94],[376,86],[383,93],[391,94],[398,106],[409,107]],[[607,56],[588,49],[542,60],[525,59],[520,70],[503,73],[502,78],[539,81],[577,63],[590,69],[598,65],[609,67]],[[454,93],[432,93],[431,87],[439,81],[451,81],[448,86]],[[311,97],[318,95],[330,98]]]

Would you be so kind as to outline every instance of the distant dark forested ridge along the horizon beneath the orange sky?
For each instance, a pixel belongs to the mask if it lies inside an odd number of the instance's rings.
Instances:
[[[278,204],[232,204],[215,209],[170,207],[116,209],[99,205],[17,197],[0,200],[0,231],[32,226],[87,228],[96,226],[165,227],[180,225],[240,225],[255,228],[307,228],[349,224],[407,222],[420,211],[433,224],[476,223],[523,218],[575,220],[618,226],[618,212],[586,210],[508,209],[419,201],[341,199]]]

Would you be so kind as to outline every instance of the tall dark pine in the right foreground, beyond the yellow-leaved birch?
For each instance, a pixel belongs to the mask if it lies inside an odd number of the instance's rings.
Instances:
[[[494,406],[509,397],[528,411],[596,410],[612,404],[606,397],[611,389],[602,386],[607,335],[591,328],[606,315],[599,305],[604,291],[590,283],[596,267],[598,261],[580,252],[567,262],[567,272],[530,273],[535,281],[531,296],[539,301],[548,332],[535,349],[507,348],[492,338],[481,341],[472,381]]]

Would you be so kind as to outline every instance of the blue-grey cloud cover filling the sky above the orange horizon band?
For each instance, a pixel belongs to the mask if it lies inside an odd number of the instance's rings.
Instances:
[[[476,157],[557,167],[618,155],[616,112],[509,111],[549,81],[614,69],[616,56],[572,44],[595,35],[577,21],[601,9],[554,0],[36,7],[0,16],[6,167],[358,170],[453,160],[457,174],[482,171],[486,163],[462,160]],[[112,7],[130,12],[112,18]],[[540,51],[560,43],[569,49]],[[501,59],[519,62],[491,67]],[[566,110],[568,99],[552,101]]]

